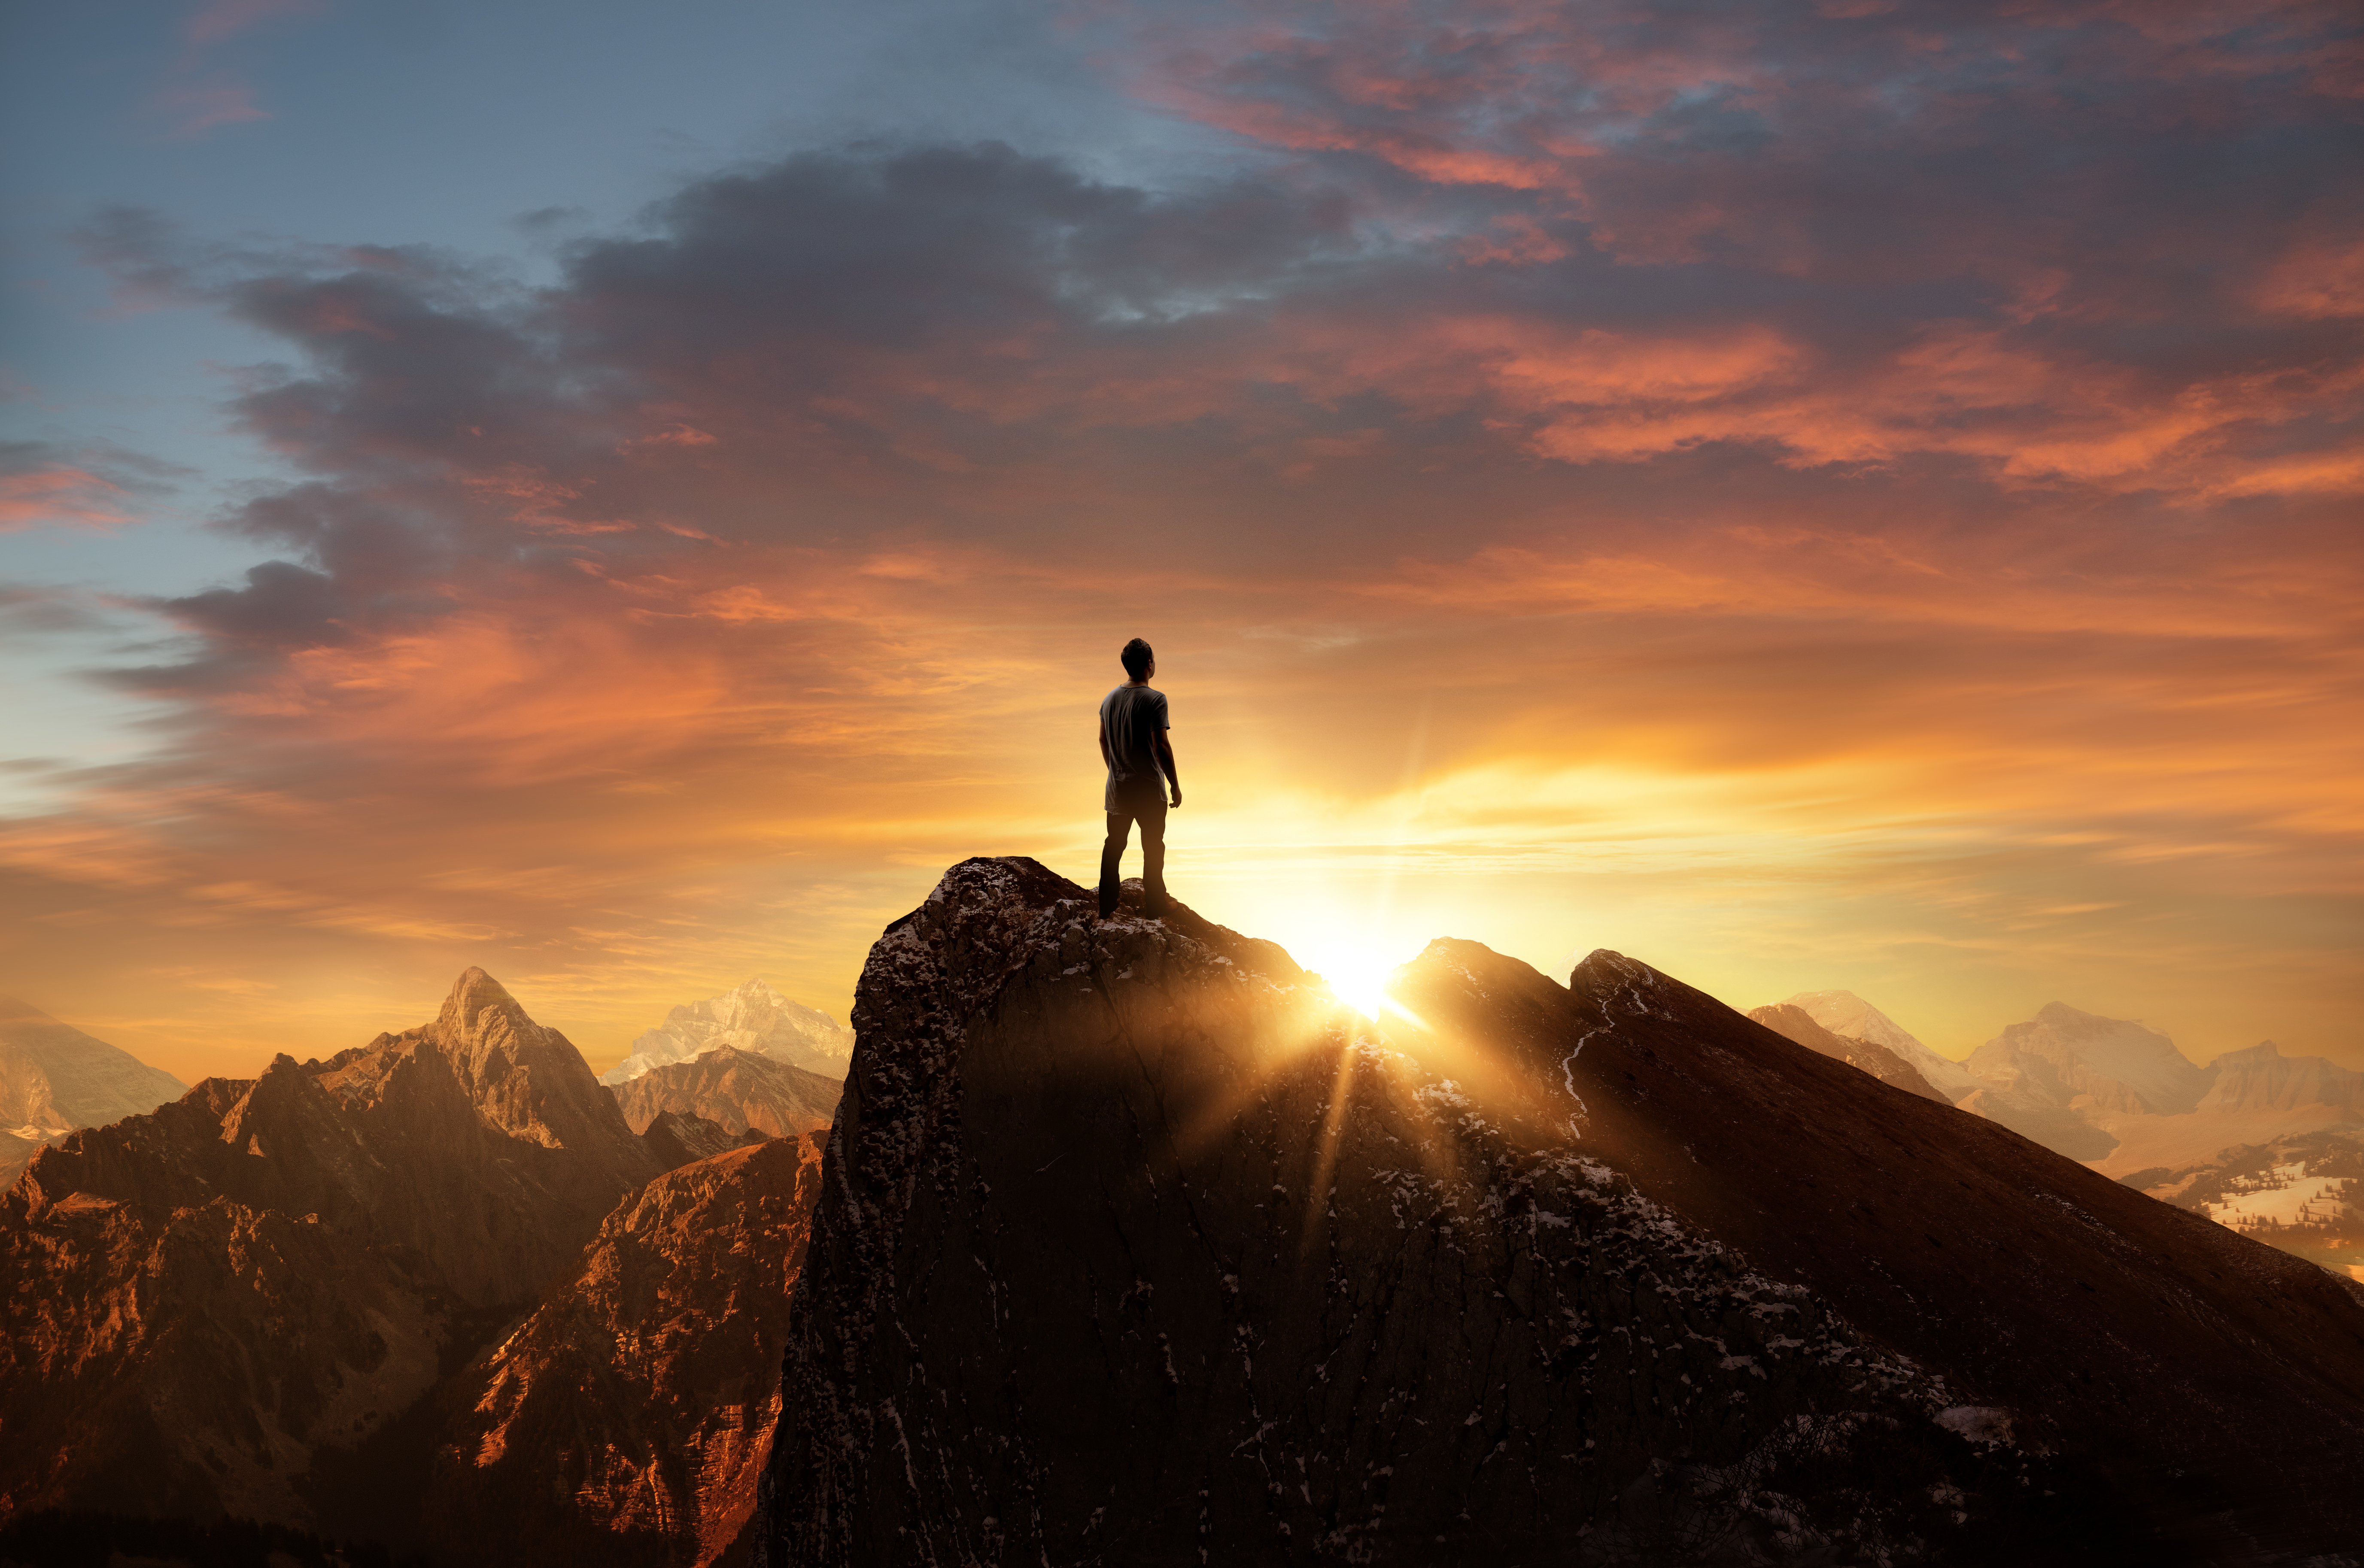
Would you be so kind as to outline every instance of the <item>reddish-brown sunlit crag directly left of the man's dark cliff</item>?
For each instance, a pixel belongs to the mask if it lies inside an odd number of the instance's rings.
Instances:
[[[754,1511],[820,1147],[669,1171],[437,1395],[426,1518],[454,1563],[690,1566]],[[745,1556],[745,1547],[740,1549]]]

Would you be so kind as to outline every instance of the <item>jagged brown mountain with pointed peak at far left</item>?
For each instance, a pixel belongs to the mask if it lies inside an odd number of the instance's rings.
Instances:
[[[0,1518],[322,1523],[314,1462],[381,1433],[657,1168],[482,970],[423,1029],[69,1135],[0,1199]]]

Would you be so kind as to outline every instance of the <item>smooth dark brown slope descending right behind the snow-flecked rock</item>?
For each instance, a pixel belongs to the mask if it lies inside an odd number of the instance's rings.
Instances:
[[[2364,1540],[2350,1284],[1615,953],[1563,991],[1440,941],[1399,996],[1504,1076],[1572,1078],[1584,1145],[1641,1192],[2007,1407],[2121,1525],[2163,1530],[2156,1551]]]

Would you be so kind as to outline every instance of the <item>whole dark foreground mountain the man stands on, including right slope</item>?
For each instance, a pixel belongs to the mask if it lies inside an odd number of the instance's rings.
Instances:
[[[1437,941],[1378,1036],[1272,944],[1092,908],[967,861],[872,948],[764,1561],[2364,1533],[2364,1301],[2321,1270],[1615,953]]]

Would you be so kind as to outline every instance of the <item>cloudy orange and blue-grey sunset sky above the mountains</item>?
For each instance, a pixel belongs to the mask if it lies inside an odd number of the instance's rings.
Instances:
[[[946,866],[2364,1067],[2364,19],[0,9],[0,991],[844,1017]]]

